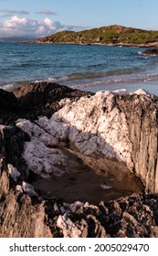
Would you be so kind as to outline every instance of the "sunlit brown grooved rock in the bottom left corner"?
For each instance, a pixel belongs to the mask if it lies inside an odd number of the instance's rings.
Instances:
[[[50,238],[53,235],[45,224],[43,204],[33,206],[26,195],[9,192],[0,202],[1,238]]]

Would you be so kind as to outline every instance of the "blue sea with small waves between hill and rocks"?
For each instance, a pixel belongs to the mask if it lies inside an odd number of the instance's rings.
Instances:
[[[0,88],[12,91],[47,80],[82,91],[136,91],[158,95],[158,56],[146,48],[0,42]]]

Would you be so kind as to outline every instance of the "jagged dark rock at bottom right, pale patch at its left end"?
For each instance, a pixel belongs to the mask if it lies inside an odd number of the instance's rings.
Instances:
[[[57,226],[65,238],[157,237],[157,199],[133,194],[95,207],[85,204],[59,215]]]

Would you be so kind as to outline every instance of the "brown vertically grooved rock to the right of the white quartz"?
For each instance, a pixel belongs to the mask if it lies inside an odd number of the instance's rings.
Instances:
[[[148,193],[158,192],[157,101],[158,98],[153,95],[117,98],[128,123],[133,172],[141,178]]]

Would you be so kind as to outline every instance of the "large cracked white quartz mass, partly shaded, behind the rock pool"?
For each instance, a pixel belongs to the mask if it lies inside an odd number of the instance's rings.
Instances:
[[[53,173],[61,176],[62,166],[67,166],[67,156],[53,148],[59,141],[73,144],[79,154],[86,157],[102,155],[116,159],[132,171],[132,144],[125,114],[120,111],[115,95],[138,94],[147,97],[147,91],[129,93],[120,91],[98,91],[94,96],[81,97],[79,101],[62,100],[65,106],[50,119],[40,117],[31,123],[25,119],[16,126],[29,134],[24,158],[32,171],[45,176]],[[61,168],[60,168],[61,166]]]

